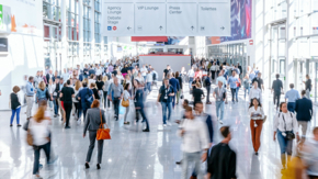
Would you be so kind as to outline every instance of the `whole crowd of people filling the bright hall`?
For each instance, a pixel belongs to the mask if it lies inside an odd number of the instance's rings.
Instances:
[[[162,72],[162,85],[158,87],[161,82],[159,72]],[[115,63],[88,64],[83,68],[78,65],[76,68],[64,69],[60,75],[58,71],[53,74],[53,70],[47,69],[45,75],[43,71],[37,71],[34,77],[25,76],[25,85],[21,88],[15,86],[10,94],[12,109],[10,126],[13,124],[14,115],[16,115],[18,126],[21,126],[22,100],[18,92],[22,89],[25,94],[27,116],[24,128],[29,132],[27,136],[32,138],[34,147],[33,175],[39,178],[41,149],[45,150],[47,164],[52,164],[56,159],[56,157],[50,156],[52,119],[49,111],[53,111],[54,118],[60,119],[66,130],[71,127],[71,116],[78,122],[83,121],[83,137],[89,131],[90,138],[84,164],[88,169],[98,130],[101,125],[106,124],[105,113],[113,113],[111,116],[115,121],[118,121],[120,114],[124,114],[124,125],[130,125],[133,121],[129,121],[128,118],[132,115],[134,115],[134,124],[138,124],[139,115],[141,115],[143,120],[140,121],[145,124],[143,132],[150,132],[145,102],[152,88],[156,88],[158,90],[157,103],[160,103],[162,109],[163,127],[172,125],[171,115],[179,102],[182,102],[184,109],[183,118],[175,121],[179,123],[178,135],[182,138],[183,157],[181,161],[177,163],[182,165],[182,179],[189,178],[190,163],[195,164],[191,178],[197,178],[201,175],[202,161],[206,161],[207,178],[237,178],[236,153],[228,145],[231,139],[230,126],[225,125],[219,128],[224,139],[219,144],[215,144],[214,131],[216,127],[214,121],[224,123],[225,104],[228,103],[229,99],[227,93],[231,94],[232,104],[236,104],[239,102],[238,93],[242,88],[243,98],[248,97],[252,146],[254,155],[259,155],[261,132],[266,121],[262,98],[264,85],[260,70],[248,68],[242,71],[239,64],[229,65],[226,61],[220,63],[218,59],[192,59],[189,71],[181,67],[180,71],[174,72],[168,65],[163,71],[159,72],[151,65],[139,66],[137,57]],[[189,86],[185,86],[186,82]],[[291,90],[285,93],[285,102],[280,103],[283,93],[280,76],[277,75],[276,80],[273,81],[272,91],[274,91],[274,104],[276,104],[274,109],[277,110],[273,124],[273,139],[277,138],[280,144],[283,170],[297,167],[291,160],[300,159],[304,164],[303,170],[307,170],[309,177],[317,178],[318,160],[315,157],[318,153],[313,148],[317,149],[318,128],[314,128],[313,139],[306,138],[308,122],[313,118],[309,76],[304,83],[306,88],[302,91],[302,97],[291,83]],[[185,88],[189,88],[191,99],[185,99]],[[215,99],[215,120],[211,114],[203,112],[205,98],[205,104],[212,104],[211,92]],[[35,114],[32,114],[34,103],[38,104],[38,109]],[[125,109],[125,113],[121,113],[122,108]],[[299,155],[292,157],[294,138],[299,142],[297,143],[297,154]],[[98,169],[101,168],[102,154],[103,141],[98,141]],[[293,172],[298,175],[295,170]]]

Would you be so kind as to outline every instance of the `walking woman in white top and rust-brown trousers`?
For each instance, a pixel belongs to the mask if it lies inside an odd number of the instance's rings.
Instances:
[[[253,148],[255,155],[259,155],[259,148],[261,146],[261,133],[263,127],[264,111],[258,99],[253,99],[253,102],[249,107],[249,115],[251,118],[250,127]]]

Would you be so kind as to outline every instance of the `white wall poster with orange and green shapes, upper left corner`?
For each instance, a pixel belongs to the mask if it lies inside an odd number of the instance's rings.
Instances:
[[[4,12],[0,14],[0,29],[5,23],[9,24],[7,33],[43,36],[42,8],[41,0],[0,0],[0,11]]]

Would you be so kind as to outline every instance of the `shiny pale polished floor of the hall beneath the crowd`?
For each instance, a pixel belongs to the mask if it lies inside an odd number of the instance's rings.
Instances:
[[[184,86],[185,87],[185,86]],[[130,113],[130,125],[123,125],[123,116],[114,121],[111,111],[107,111],[107,123],[111,127],[112,139],[104,142],[102,169],[96,170],[96,148],[93,153],[91,168],[84,169],[86,154],[89,138],[82,137],[82,123],[71,119],[71,128],[65,130],[59,119],[53,118],[53,149],[58,156],[54,165],[45,164],[42,153],[41,170],[43,178],[49,179],[179,179],[181,166],[175,161],[182,158],[180,150],[181,138],[175,132],[178,125],[162,127],[161,107],[156,103],[158,91],[155,89],[147,99],[147,116],[150,123],[150,133],[143,133],[143,124],[134,125],[134,113]],[[191,99],[185,90],[185,98]],[[229,93],[228,93],[229,94]],[[231,147],[237,153],[237,176],[242,179],[275,179],[281,177],[280,148],[273,142],[273,116],[276,113],[270,91],[263,93],[264,111],[268,121],[261,135],[259,156],[253,155],[250,139],[248,103],[240,90],[239,102],[225,108],[225,124],[232,128]],[[205,111],[215,116],[213,104],[206,105]],[[205,101],[205,100],[204,100]],[[35,107],[35,105],[34,105]],[[35,110],[35,108],[34,108]],[[315,109],[316,111],[316,109]],[[22,124],[25,122],[25,108],[22,109]],[[25,132],[22,128],[9,126],[11,112],[0,112],[0,178],[29,179],[32,178],[33,149],[25,143]],[[181,118],[181,107],[173,111],[172,121]],[[218,143],[218,128],[214,122],[215,142]],[[310,123],[316,126],[316,115]],[[202,165],[204,171],[205,165]],[[200,176],[198,178],[203,178]]]

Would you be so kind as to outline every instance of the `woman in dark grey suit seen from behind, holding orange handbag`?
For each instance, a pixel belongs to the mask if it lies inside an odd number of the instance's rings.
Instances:
[[[87,131],[89,131],[89,137],[90,137],[90,146],[87,154],[86,169],[90,168],[90,161],[91,161],[92,153],[95,146],[98,130],[100,128],[101,123],[102,125],[106,123],[105,111],[101,110],[99,107],[100,107],[100,101],[94,100],[91,105],[91,109],[88,110],[87,116],[86,116],[83,137],[86,137]],[[100,164],[102,164],[103,145],[104,145],[103,139],[98,141],[98,165],[96,165],[98,169],[101,169]]]

